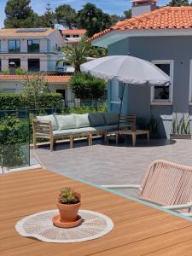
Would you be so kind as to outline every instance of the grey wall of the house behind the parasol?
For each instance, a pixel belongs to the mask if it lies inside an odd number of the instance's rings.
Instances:
[[[147,61],[172,60],[173,104],[151,106],[148,87],[129,86],[125,102],[127,112],[149,118],[152,114],[161,120],[161,135],[168,137],[172,128],[172,113],[183,115],[189,110],[189,63],[192,60],[192,37],[139,37],[126,38],[108,47],[109,55],[137,56]]]

